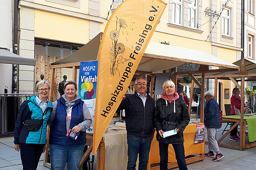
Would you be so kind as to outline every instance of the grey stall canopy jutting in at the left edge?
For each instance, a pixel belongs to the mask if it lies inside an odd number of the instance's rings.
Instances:
[[[0,49],[0,63],[35,66],[36,59],[24,58],[8,50]]]

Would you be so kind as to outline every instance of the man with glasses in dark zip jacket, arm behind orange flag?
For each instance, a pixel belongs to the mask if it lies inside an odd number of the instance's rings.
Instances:
[[[135,170],[139,153],[139,170],[147,170],[151,134],[153,131],[154,100],[146,93],[146,80],[138,77],[136,92],[125,97],[118,110],[125,109],[128,143],[127,170]]]

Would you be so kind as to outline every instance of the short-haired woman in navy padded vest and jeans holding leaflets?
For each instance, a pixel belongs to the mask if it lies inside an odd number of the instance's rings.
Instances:
[[[92,124],[90,112],[77,93],[77,83],[73,80],[64,84],[64,93],[53,103],[49,118],[51,170],[78,170],[86,143],[86,129]],[[76,139],[67,137],[69,130],[78,133]]]

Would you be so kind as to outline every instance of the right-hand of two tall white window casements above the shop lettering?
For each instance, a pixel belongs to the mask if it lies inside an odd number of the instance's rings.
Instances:
[[[187,23],[188,27],[196,28],[197,0],[188,0]]]

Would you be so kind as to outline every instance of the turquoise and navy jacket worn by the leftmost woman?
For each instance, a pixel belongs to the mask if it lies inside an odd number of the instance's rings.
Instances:
[[[34,144],[45,144],[47,134],[47,121],[50,113],[53,109],[52,103],[48,100],[48,105],[45,112],[39,107],[36,101],[36,96],[28,98],[20,105],[19,114],[15,123],[14,129],[14,144],[19,143],[34,143]],[[38,131],[27,131],[23,126],[24,120],[34,119],[45,119],[41,128]]]

